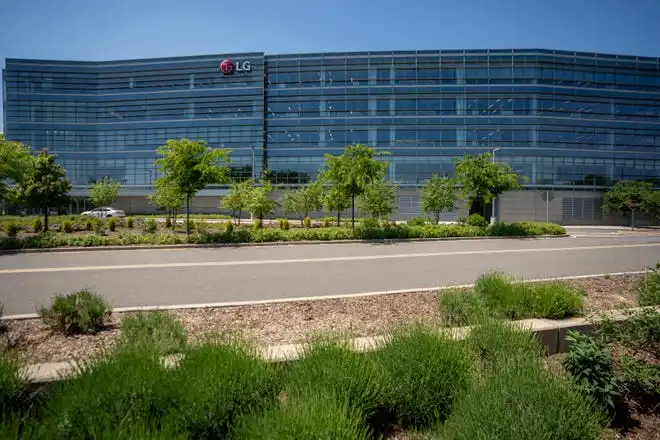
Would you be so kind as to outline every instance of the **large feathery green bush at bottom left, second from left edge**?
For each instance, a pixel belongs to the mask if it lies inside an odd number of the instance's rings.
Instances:
[[[82,362],[55,384],[44,423],[54,438],[90,439],[99,427],[158,426],[176,413],[168,372],[148,346],[122,344]],[[141,438],[141,437],[129,437]]]

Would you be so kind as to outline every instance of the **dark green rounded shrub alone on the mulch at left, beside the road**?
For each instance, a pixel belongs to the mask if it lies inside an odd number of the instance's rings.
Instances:
[[[48,326],[65,334],[96,333],[103,328],[111,310],[102,296],[82,289],[69,295],[55,295],[49,307],[39,309]]]

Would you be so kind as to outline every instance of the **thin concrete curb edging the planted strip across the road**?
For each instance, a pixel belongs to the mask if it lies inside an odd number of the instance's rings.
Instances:
[[[3,249],[0,255],[11,254],[47,254],[57,252],[99,252],[99,251],[134,251],[134,250],[159,250],[159,249],[212,249],[212,248],[236,248],[236,247],[272,247],[272,246],[310,246],[317,244],[388,244],[388,243],[415,243],[434,241],[458,241],[458,240],[539,240],[549,238],[570,238],[569,234],[562,235],[528,235],[528,236],[480,236],[480,237],[441,237],[441,238],[392,238],[374,240],[301,240],[301,241],[271,241],[264,243],[213,243],[213,244],[146,244],[146,245],[112,245],[112,246],[60,246],[54,248],[25,248],[25,249]]]

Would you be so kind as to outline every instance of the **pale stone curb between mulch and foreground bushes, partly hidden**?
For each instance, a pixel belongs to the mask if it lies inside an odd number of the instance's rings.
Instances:
[[[566,336],[569,331],[580,333],[591,333],[594,327],[603,319],[612,319],[614,321],[625,321],[630,313],[636,311],[652,309],[660,311],[660,307],[634,307],[629,309],[609,310],[601,313],[599,316],[588,318],[571,318],[561,321],[548,319],[526,319],[522,321],[509,321],[510,325],[523,330],[531,331],[538,341],[545,346],[546,354],[553,355],[564,353],[568,350]],[[437,329],[439,333],[449,335],[450,337],[461,340],[466,338],[471,327],[448,327]],[[378,350],[387,342],[387,336],[368,336],[352,338],[347,341],[348,346],[356,352],[364,353]],[[291,362],[303,356],[305,344],[283,344],[272,345],[259,348],[260,356],[267,362]],[[164,362],[169,365],[175,365],[180,360],[181,355],[172,355],[164,358]],[[41,364],[31,364],[25,367],[24,373],[28,381],[33,384],[45,384],[65,380],[71,375],[75,375],[78,364],[76,361],[49,362]]]

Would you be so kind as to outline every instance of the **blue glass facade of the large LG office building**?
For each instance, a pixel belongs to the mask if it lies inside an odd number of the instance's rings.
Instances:
[[[219,63],[249,61],[225,75]],[[168,138],[233,150],[235,176],[316,177],[324,153],[392,153],[418,186],[452,159],[497,149],[532,187],[660,185],[660,59],[550,50],[211,55],[6,61],[9,139],[57,153],[75,185],[157,177]]]

